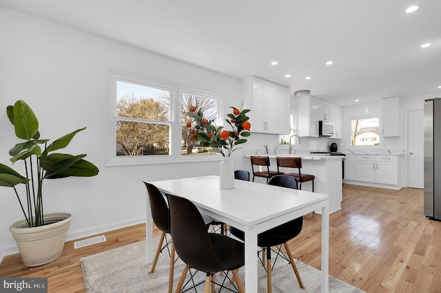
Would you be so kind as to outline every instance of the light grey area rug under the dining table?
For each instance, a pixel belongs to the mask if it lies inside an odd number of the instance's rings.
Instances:
[[[159,237],[155,237],[153,243],[155,251],[158,241]],[[256,261],[258,261],[257,257]],[[81,259],[81,269],[83,270],[84,285],[87,293],[167,292],[169,265],[170,257],[167,250],[164,250],[159,256],[154,273],[150,274],[151,264],[147,265],[145,263],[145,241],[139,241]],[[320,271],[300,261],[296,261],[296,265],[305,289],[301,289],[298,285],[291,265],[284,259],[279,259],[276,261],[273,270],[273,292],[320,292]],[[181,259],[178,259],[175,263],[174,290],[184,266]],[[258,268],[258,292],[267,292],[266,272],[262,265],[259,265]],[[246,290],[243,268],[239,270],[239,276]],[[193,279],[197,283],[204,278],[205,273],[196,272]],[[189,275],[187,275],[187,279],[189,279]],[[216,281],[222,281],[219,275],[216,276]],[[229,281],[226,284],[231,286]],[[203,286],[203,284],[199,285],[196,287],[196,290],[192,289],[188,292],[204,292]],[[218,289],[216,289],[216,292],[218,292]],[[222,292],[229,291],[222,290]],[[364,291],[329,276],[329,292],[361,293]]]

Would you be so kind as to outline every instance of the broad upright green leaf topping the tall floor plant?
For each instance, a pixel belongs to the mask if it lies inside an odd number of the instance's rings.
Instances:
[[[8,114],[10,117],[10,114]],[[30,140],[39,131],[39,121],[29,105],[23,100],[14,104],[14,129],[17,138]]]

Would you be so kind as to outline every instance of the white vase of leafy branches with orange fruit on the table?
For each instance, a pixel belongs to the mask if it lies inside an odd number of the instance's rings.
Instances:
[[[247,113],[249,109],[240,109],[230,107],[233,113],[228,113],[225,122],[229,124],[232,130],[227,131],[222,126],[216,127],[212,123],[214,120],[204,118],[203,111],[190,107],[187,116],[192,118],[191,122],[187,122],[187,128],[192,129],[189,132],[194,142],[199,142],[200,146],[211,146],[216,152],[223,155],[223,162],[220,163],[220,188],[234,188],[234,164],[230,155],[240,148],[235,148],[238,144],[247,142],[246,137],[251,135],[251,123]],[[240,138],[242,136],[243,138]]]

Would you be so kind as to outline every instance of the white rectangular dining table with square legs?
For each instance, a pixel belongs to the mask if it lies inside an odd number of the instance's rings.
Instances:
[[[219,177],[213,175],[149,183],[165,193],[189,199],[201,213],[245,232],[245,290],[250,293],[256,293],[258,287],[257,235],[321,209],[320,291],[329,292],[328,195],[243,180],[235,180],[233,189],[220,189]],[[147,200],[147,263],[152,263],[154,257],[152,227],[152,213]]]

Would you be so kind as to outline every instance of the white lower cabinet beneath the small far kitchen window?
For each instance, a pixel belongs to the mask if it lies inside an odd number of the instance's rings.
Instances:
[[[398,184],[396,155],[356,155],[356,181]]]

